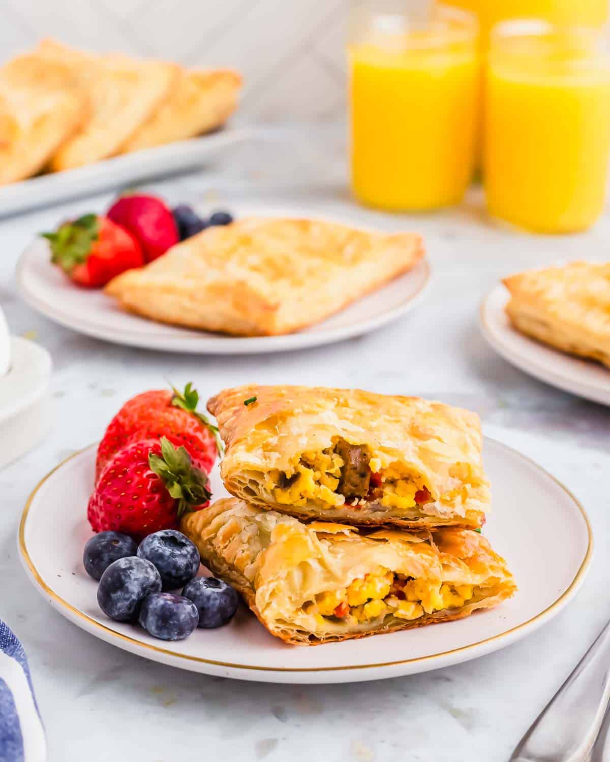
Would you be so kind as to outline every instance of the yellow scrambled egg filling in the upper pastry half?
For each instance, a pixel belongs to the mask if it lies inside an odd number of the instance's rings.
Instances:
[[[295,459],[290,470],[286,472],[274,470],[269,473],[265,487],[282,505],[304,506],[310,500],[320,501],[331,507],[345,504],[346,493],[340,486],[340,482],[342,478],[345,479],[345,469],[348,465],[335,452],[337,448],[338,443],[334,443],[326,450],[303,453]],[[366,448],[358,447],[358,449]],[[366,495],[350,498],[349,504],[376,500],[380,501],[384,507],[409,511],[431,499],[422,479],[405,475],[391,467],[380,470],[378,458],[368,459],[367,468],[376,479],[371,479],[371,487],[368,488]]]

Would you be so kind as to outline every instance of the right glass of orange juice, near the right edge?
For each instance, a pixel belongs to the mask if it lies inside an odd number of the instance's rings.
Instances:
[[[492,216],[576,232],[602,213],[610,154],[610,57],[592,27],[506,21],[486,69],[483,173]]]

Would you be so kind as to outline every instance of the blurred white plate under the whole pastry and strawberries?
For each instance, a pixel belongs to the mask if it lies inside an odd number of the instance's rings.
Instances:
[[[70,283],[59,267],[50,264],[47,242],[43,239],[34,241],[21,255],[17,280],[21,296],[31,307],[88,336],[169,352],[258,354],[330,344],[374,331],[400,318],[424,293],[430,267],[427,261],[419,261],[413,270],[304,331],[252,338],[178,328],[130,315],[101,290],[84,290]]]

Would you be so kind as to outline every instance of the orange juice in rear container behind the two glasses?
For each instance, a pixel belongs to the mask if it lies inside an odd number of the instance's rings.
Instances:
[[[448,5],[476,13],[481,38],[494,24],[511,18],[541,18],[551,24],[600,27],[608,20],[608,0],[447,0]]]

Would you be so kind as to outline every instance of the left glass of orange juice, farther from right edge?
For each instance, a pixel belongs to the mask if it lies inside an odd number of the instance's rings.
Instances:
[[[478,24],[432,3],[361,2],[348,45],[352,191],[367,206],[459,203],[479,113]]]

